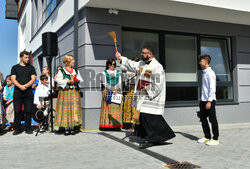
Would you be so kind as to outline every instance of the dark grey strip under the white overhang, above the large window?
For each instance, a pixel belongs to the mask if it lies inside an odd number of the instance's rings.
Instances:
[[[107,9],[86,8],[89,23],[121,25],[122,27],[187,32],[219,36],[250,36],[250,27],[198,19],[189,19],[157,14],[119,11],[118,15],[108,14]]]

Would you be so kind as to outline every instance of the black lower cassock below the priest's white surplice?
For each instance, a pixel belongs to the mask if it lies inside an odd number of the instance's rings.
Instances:
[[[140,125],[135,128],[137,136],[152,143],[161,143],[175,137],[162,115],[140,113]]]

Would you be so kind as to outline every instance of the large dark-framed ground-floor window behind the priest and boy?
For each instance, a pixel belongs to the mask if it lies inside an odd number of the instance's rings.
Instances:
[[[138,29],[124,29],[122,32],[122,54],[128,58],[140,56],[146,44],[154,47],[156,59],[166,71],[166,101],[174,105],[197,104],[200,99],[202,71],[197,56],[205,53],[212,57],[210,65],[217,77],[217,100],[233,100],[229,43],[227,37],[210,38]]]

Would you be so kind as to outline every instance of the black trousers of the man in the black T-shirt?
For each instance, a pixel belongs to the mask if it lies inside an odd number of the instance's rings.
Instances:
[[[24,120],[25,129],[31,129],[31,115],[32,115],[32,105],[33,105],[34,95],[32,90],[27,90],[25,92],[14,92],[14,129],[18,130],[21,128],[21,113],[22,106],[24,106]]]

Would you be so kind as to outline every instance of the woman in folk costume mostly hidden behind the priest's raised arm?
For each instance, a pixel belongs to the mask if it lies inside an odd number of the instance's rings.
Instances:
[[[139,58],[135,57],[132,60],[135,62],[138,62]],[[123,121],[123,128],[129,129],[129,128],[133,128],[132,125],[139,124],[139,116],[136,116],[135,114],[135,106],[133,103],[136,73],[127,71],[126,67],[121,67],[121,69],[123,71],[126,71],[125,95],[124,95],[122,121]]]

